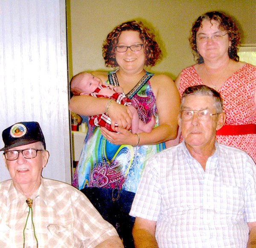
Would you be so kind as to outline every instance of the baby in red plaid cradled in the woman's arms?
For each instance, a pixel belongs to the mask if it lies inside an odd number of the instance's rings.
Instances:
[[[70,81],[70,89],[74,95],[91,95],[93,97],[104,97],[113,99],[118,104],[127,106],[133,115],[131,121],[132,133],[150,133],[155,125],[155,120],[152,117],[151,121],[145,124],[140,120],[139,115],[135,107],[131,105],[131,100],[127,98],[121,87],[114,87],[110,84],[102,84],[100,78],[93,76],[88,72],[81,72],[75,75]],[[111,102],[108,103],[108,107]],[[106,109],[108,109],[108,107]],[[97,127],[105,127],[111,132],[116,132],[111,128],[111,119],[104,113],[102,115],[94,115],[89,117],[89,123]],[[115,124],[117,126],[117,124]]]

